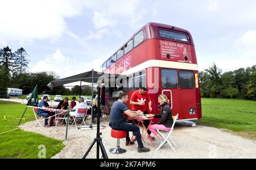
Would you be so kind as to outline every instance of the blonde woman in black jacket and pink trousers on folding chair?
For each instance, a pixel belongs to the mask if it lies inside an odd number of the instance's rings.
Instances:
[[[159,95],[158,102],[162,107],[162,111],[159,115],[154,115],[155,118],[161,118],[157,124],[148,126],[148,130],[150,130],[156,137],[160,139],[160,142],[164,141],[164,138],[158,134],[157,129],[159,130],[171,130],[172,124],[174,122],[172,118],[172,110],[170,105],[168,104],[166,95]]]

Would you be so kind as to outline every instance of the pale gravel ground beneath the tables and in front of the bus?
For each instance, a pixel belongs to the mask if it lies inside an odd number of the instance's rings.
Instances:
[[[110,127],[103,117],[101,125],[102,142],[105,150],[111,159],[116,158],[136,158],[136,159],[171,159],[171,158],[256,158],[256,142],[242,137],[238,137],[225,130],[209,128],[205,126],[188,127],[177,124],[173,132],[173,139],[177,144],[176,153],[168,145],[164,145],[159,151],[150,145],[148,153],[137,152],[137,142],[133,146],[125,146],[125,139],[121,139],[120,146],[127,150],[125,154],[115,155],[109,152],[110,148],[115,147],[117,139],[110,136]],[[35,133],[46,135],[47,137],[61,139],[65,138],[65,130],[55,130],[51,128],[34,128],[34,122],[29,122],[23,130],[34,131]],[[75,127],[69,128],[68,140],[64,141],[63,148],[59,154],[52,158],[81,158],[88,149],[93,139],[96,137],[96,128],[78,130]],[[131,134],[131,133],[130,133]],[[146,139],[146,142],[150,141]],[[159,141],[154,141],[155,146],[159,146]],[[96,158],[96,145],[89,152],[88,158]]]

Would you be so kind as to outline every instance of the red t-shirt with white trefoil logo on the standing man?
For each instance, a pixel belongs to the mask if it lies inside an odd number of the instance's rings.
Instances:
[[[150,96],[148,95],[148,93],[146,92],[146,94],[142,95],[139,93],[139,91],[135,91],[133,92],[133,94],[131,95],[131,101],[134,102],[139,102],[139,101],[144,101],[144,105],[133,105],[133,107],[131,108],[134,111],[138,111],[141,110],[142,112],[147,110],[147,103],[148,101],[150,101]]]

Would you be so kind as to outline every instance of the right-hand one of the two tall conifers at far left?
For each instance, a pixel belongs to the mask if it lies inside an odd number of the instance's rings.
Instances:
[[[30,61],[27,59],[28,54],[24,48],[20,48],[15,52],[15,72],[22,74],[26,72],[27,65]]]

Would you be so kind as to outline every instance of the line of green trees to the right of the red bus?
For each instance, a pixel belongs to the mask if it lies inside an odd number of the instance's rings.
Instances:
[[[199,77],[201,97],[256,100],[256,65],[222,73],[214,63]]]

